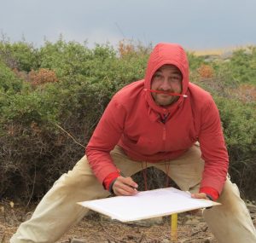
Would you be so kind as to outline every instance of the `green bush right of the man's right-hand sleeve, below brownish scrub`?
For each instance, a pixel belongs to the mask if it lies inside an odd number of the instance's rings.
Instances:
[[[216,97],[230,155],[230,175],[247,198],[255,199],[256,102]]]

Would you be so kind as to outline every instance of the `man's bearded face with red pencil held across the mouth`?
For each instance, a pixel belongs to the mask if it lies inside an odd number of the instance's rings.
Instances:
[[[176,66],[164,65],[154,72],[151,81],[151,90],[160,90],[171,93],[182,92],[182,73]],[[151,93],[155,103],[161,107],[172,105],[178,100],[178,96]]]

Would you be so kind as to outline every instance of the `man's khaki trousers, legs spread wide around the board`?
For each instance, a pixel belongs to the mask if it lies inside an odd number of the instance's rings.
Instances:
[[[197,192],[200,188],[204,161],[200,148],[194,146],[183,156],[158,164],[132,161],[122,149],[116,147],[111,152],[113,161],[126,176],[141,171],[143,166],[155,166],[172,178],[182,190]],[[167,164],[167,166],[166,166]],[[166,168],[169,171],[166,171]],[[39,203],[32,218],[21,223],[11,243],[55,242],[61,238],[74,223],[78,223],[87,213],[87,209],[76,203],[107,197],[108,191],[102,188],[96,176],[90,170],[87,159],[80,159],[73,167],[55,182]],[[236,184],[230,179],[218,201],[222,205],[204,210],[204,217],[214,236],[220,243],[255,243],[256,232],[247,207],[241,200]]]

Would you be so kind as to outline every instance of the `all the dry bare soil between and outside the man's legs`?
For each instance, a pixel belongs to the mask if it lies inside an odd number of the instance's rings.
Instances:
[[[256,206],[249,207],[256,225]],[[21,222],[32,215],[34,206],[27,208],[21,205],[12,205],[10,202],[0,203],[0,242],[9,242],[12,234]],[[108,217],[90,211],[90,214],[64,234],[58,243],[78,242],[75,239],[88,243],[167,243],[171,241],[170,217],[160,217],[134,223],[120,223]],[[217,243],[207,228],[200,214],[178,214],[177,241],[180,243]]]

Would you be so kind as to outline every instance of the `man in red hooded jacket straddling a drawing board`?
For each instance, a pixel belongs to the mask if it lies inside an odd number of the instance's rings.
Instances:
[[[228,164],[212,96],[189,83],[183,48],[159,43],[149,57],[145,78],[113,96],[86,156],[55,182],[11,242],[55,242],[84,217],[87,210],[76,202],[109,192],[137,194],[138,185],[130,176],[149,166],[165,171],[192,197],[222,204],[204,211],[218,242],[256,242],[246,205],[227,177]]]

